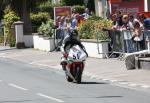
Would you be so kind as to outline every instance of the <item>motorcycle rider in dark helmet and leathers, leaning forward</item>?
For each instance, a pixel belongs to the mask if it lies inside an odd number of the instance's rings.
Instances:
[[[63,40],[62,46],[61,46],[61,52],[63,56],[61,57],[61,65],[63,66],[63,70],[66,70],[66,59],[68,56],[69,49],[74,46],[79,45],[83,49],[83,51],[86,53],[88,57],[88,53],[85,50],[85,47],[81,44],[80,40],[78,39],[78,31],[76,29],[71,30],[68,35]]]

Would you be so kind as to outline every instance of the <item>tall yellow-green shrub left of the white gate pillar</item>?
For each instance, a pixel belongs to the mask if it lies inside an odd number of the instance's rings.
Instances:
[[[15,21],[18,20],[20,20],[20,18],[16,15],[14,11],[10,10],[9,8],[5,10],[5,15],[4,15],[5,31],[4,32],[10,46],[15,46],[16,43],[15,36],[11,30],[11,26]]]

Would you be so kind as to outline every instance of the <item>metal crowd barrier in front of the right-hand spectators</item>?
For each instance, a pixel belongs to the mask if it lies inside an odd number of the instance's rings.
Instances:
[[[132,40],[132,31],[110,30],[109,32],[111,39],[111,55],[114,53],[124,55],[125,53],[133,53],[138,51],[136,43]],[[150,31],[143,31],[143,34],[143,40],[145,41],[145,35],[150,35]]]

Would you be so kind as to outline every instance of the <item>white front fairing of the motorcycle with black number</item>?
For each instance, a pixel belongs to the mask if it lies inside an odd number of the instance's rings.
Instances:
[[[75,45],[72,48],[70,48],[68,53],[68,60],[79,62],[86,60],[86,58],[87,58],[86,53],[78,45]]]

